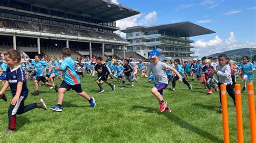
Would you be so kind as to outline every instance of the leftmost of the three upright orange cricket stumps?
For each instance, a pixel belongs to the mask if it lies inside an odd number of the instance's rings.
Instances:
[[[230,133],[228,131],[227,91],[226,91],[225,84],[220,85],[220,96],[221,96],[221,108],[222,108],[222,119],[223,119],[224,143],[229,143]]]

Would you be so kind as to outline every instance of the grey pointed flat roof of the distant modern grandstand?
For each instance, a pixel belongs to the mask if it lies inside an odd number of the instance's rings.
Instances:
[[[138,31],[147,32],[147,31],[153,31],[153,30],[164,30],[167,32],[181,34],[186,37],[216,33],[215,31],[208,30],[205,27],[199,26],[197,24],[193,24],[191,22],[163,24],[163,25],[155,25],[155,26],[134,26],[134,27],[127,27],[125,30],[120,30],[120,31],[124,33],[132,33],[132,32],[138,32]]]

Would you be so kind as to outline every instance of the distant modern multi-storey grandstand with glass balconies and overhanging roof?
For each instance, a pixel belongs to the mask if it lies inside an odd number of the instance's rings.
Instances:
[[[190,37],[211,34],[214,31],[199,25],[182,22],[156,26],[134,26],[120,30],[126,33],[126,40],[130,42],[127,51],[134,51],[147,58],[153,49],[159,49],[165,57],[190,59]]]

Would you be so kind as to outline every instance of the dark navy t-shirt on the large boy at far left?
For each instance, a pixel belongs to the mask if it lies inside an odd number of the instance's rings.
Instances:
[[[12,70],[8,68],[6,70],[6,80],[9,82],[12,97],[16,95],[18,82],[23,82],[20,96],[28,97],[29,90],[26,86],[25,71],[22,69],[22,67]]]

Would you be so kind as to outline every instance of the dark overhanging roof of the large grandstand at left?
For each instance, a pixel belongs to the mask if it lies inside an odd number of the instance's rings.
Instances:
[[[41,8],[73,13],[106,22],[113,22],[126,17],[138,15],[138,10],[109,2],[108,0],[14,0]]]

